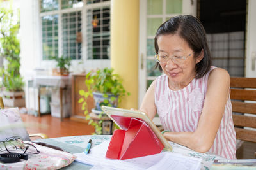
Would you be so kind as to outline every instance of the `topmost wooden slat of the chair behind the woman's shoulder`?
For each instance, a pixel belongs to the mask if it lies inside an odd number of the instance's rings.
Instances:
[[[256,78],[232,77],[230,87],[256,88]]]

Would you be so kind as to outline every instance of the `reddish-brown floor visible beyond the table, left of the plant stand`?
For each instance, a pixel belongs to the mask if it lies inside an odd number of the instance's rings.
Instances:
[[[34,115],[21,114],[22,120],[26,123],[26,129],[29,134],[44,133],[49,138],[61,136],[75,136],[92,134],[94,129],[91,125],[83,122],[76,122],[70,118],[51,117],[51,114],[35,117]]]

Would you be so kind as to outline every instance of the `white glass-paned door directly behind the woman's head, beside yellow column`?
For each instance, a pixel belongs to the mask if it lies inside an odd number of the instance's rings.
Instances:
[[[154,69],[154,36],[157,28],[170,17],[196,16],[196,0],[140,0],[139,106],[146,90],[161,73]]]

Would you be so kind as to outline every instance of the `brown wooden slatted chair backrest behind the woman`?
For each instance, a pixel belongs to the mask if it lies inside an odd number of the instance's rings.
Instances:
[[[256,117],[253,117],[256,115],[256,78],[231,77],[230,87],[232,111],[243,113],[241,115],[236,115],[233,113],[236,138],[243,141],[256,142],[256,131],[243,128],[256,128]],[[252,103],[250,101],[255,102]],[[252,116],[244,113],[250,113],[254,115]]]

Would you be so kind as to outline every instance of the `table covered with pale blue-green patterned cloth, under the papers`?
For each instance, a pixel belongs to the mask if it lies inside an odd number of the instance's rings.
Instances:
[[[94,146],[99,145],[103,141],[110,141],[111,135],[84,135],[84,136],[67,136],[67,137],[61,137],[61,138],[48,138],[48,139],[38,139],[36,141],[42,141],[44,143],[48,143],[54,146],[58,146],[60,148],[63,148],[63,150],[70,152],[70,153],[81,153],[83,152],[84,148],[86,147],[88,140],[92,139],[92,148]],[[186,148],[185,146],[179,145],[177,143],[171,142],[171,145],[173,146],[173,152],[175,153],[182,153],[183,155],[189,156],[189,157],[196,157],[202,159],[202,167],[201,169],[207,170],[210,169],[212,166],[212,162],[214,159],[225,159],[223,157],[220,157],[218,155],[214,155],[212,153],[199,153],[195,152],[189,148]],[[225,159],[227,160],[227,159]],[[79,162],[72,162],[67,167],[64,167],[63,169],[90,169],[92,166],[87,164],[82,164]]]

